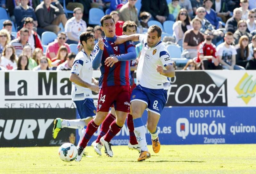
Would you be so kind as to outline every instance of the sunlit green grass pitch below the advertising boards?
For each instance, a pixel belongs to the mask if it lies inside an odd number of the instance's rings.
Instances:
[[[256,144],[161,145],[158,154],[148,148],[143,162],[137,151],[113,146],[112,158],[87,147],[88,157],[70,163],[59,159],[59,147],[0,148],[0,173],[256,173]]]

